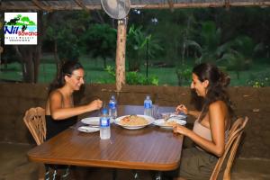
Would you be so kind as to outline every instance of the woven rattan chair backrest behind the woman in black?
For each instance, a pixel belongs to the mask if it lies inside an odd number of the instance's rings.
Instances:
[[[41,107],[30,108],[25,112],[23,121],[28,130],[30,130],[33,139],[37,145],[40,145],[46,139],[46,121],[45,110]]]

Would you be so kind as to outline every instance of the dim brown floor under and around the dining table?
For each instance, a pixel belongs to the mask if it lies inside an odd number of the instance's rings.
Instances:
[[[35,180],[39,175],[39,164],[29,162],[26,152],[31,148],[27,144],[0,142],[0,180]],[[78,167],[76,179],[112,179],[112,169]],[[232,180],[269,180],[270,159],[238,158],[232,168]],[[132,179],[131,170],[118,170],[117,180]],[[139,179],[150,180],[154,172],[139,171]]]

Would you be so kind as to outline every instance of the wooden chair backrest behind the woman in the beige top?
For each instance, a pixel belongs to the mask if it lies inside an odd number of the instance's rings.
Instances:
[[[232,127],[229,130],[229,139],[228,142],[225,145],[225,151],[222,157],[219,158],[216,166],[213,169],[213,172],[211,174],[211,180],[216,180],[220,173],[220,168],[227,156],[227,165],[224,171],[223,180],[229,180],[230,179],[230,169],[233,163],[233,160],[235,158],[238,145],[242,136],[242,133],[244,131],[244,128],[247,124],[248,118],[238,118],[237,121],[235,121],[232,125]]]

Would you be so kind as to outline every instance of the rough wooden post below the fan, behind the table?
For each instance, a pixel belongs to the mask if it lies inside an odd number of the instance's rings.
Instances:
[[[118,20],[117,28],[117,47],[116,47],[116,91],[121,91],[121,86],[126,83],[125,77],[125,58],[127,40],[127,18]]]

